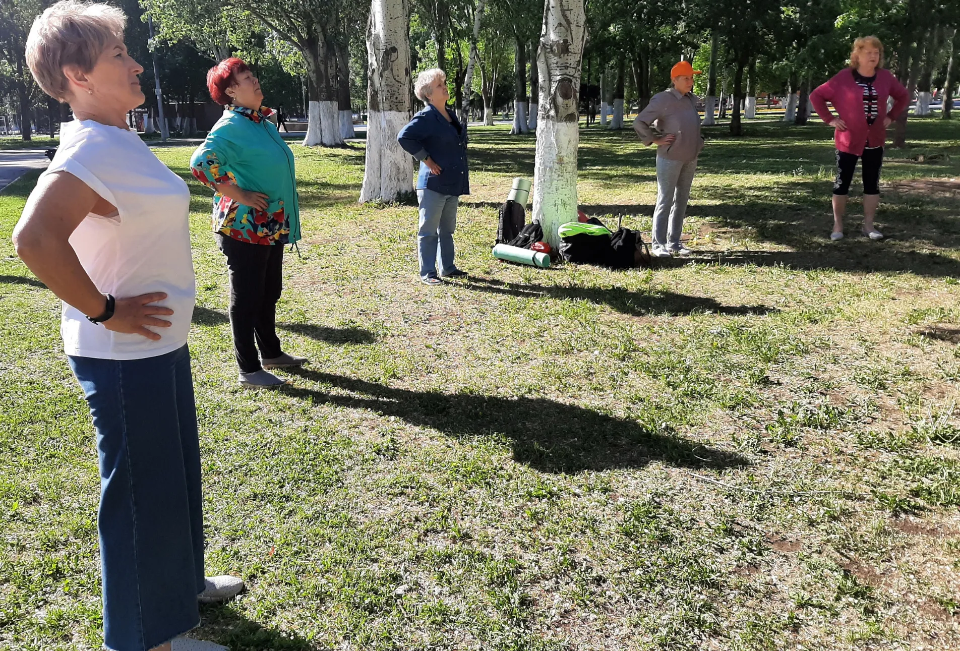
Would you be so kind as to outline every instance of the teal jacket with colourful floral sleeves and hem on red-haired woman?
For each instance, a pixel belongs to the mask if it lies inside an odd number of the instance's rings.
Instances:
[[[213,230],[241,242],[283,245],[300,240],[294,155],[267,119],[273,113],[265,107],[226,107],[190,158],[193,176],[208,187],[214,182],[230,183],[267,195],[266,211],[219,192],[213,195]]]

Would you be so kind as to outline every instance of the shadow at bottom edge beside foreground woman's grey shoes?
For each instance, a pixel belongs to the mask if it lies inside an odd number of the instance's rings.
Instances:
[[[234,606],[201,606],[198,638],[216,641],[231,651],[313,651],[317,646],[295,633],[262,626],[236,612]]]

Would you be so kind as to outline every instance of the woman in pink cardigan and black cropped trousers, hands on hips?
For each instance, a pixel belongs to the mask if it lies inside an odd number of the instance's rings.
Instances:
[[[863,234],[872,240],[883,239],[883,233],[874,227],[876,206],[880,203],[883,145],[887,127],[906,110],[909,98],[906,88],[882,66],[883,43],[876,36],[862,36],[853,41],[850,67],[810,93],[810,102],[820,119],[836,130],[833,142],[837,176],[833,181],[831,240],[843,239],[843,216],[857,158],[863,175]],[[894,98],[894,107],[888,113],[890,97]],[[839,116],[830,112],[828,102]]]

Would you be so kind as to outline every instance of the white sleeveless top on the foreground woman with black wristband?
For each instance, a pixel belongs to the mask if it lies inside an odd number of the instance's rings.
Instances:
[[[68,355],[100,359],[155,357],[186,344],[196,296],[188,222],[190,191],[132,131],[92,120],[63,126],[60,148],[44,174],[69,172],[116,206],[118,214],[88,214],[70,235],[70,246],[104,294],[127,299],[166,292],[156,304],[170,327],[151,327],[152,341],[113,332],[63,303],[60,334]]]

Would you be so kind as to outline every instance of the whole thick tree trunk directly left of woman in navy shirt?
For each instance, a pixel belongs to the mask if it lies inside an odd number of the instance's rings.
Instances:
[[[360,202],[396,202],[412,192],[413,165],[396,142],[410,121],[407,0],[372,0],[367,26],[367,161]]]

